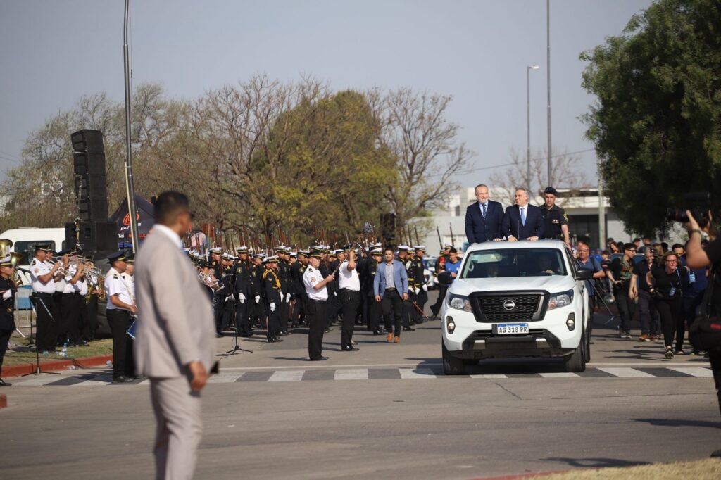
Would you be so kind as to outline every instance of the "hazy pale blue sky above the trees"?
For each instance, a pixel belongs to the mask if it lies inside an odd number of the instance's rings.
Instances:
[[[583,50],[619,35],[648,0],[552,0],[552,135],[556,150],[593,148],[578,120],[593,101],[581,87]],[[133,84],[156,81],[194,98],[255,73],[303,75],[336,90],[410,86],[454,97],[448,119],[487,181],[488,166],[544,148],[546,1],[365,0],[131,2]],[[0,0],[0,172],[17,165],[33,129],[81,96],[123,99],[123,0]],[[69,132],[68,132],[69,135]],[[583,154],[595,178],[595,154]]]

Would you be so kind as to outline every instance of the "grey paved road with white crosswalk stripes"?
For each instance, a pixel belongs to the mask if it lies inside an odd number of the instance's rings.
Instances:
[[[306,360],[307,337],[258,339],[222,360],[204,392],[196,478],[472,479],[704,458],[721,422],[703,358],[663,359],[660,343],[621,340],[598,316],[592,364],[484,362],[444,377],[440,326],[400,344],[365,331],[360,352]],[[218,352],[232,339],[220,339]],[[103,370],[38,375],[4,388],[3,478],[152,476],[149,389],[108,384]]]

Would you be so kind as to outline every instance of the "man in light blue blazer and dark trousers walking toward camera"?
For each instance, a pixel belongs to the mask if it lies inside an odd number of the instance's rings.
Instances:
[[[376,302],[381,302],[386,325],[390,324],[391,311],[395,317],[395,335],[393,332],[388,332],[386,340],[400,343],[403,302],[408,300],[408,275],[402,262],[394,259],[393,249],[386,247],[383,257],[384,262],[376,267],[373,293],[376,295]]]

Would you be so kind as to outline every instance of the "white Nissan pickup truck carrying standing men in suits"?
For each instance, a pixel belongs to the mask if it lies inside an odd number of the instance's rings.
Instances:
[[[592,275],[558,240],[470,246],[443,301],[443,372],[517,357],[563,357],[566,371],[583,372]]]

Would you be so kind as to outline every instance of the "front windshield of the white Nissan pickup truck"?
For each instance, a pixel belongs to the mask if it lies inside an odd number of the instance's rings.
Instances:
[[[547,277],[566,275],[558,249],[492,249],[469,252],[460,278]]]

